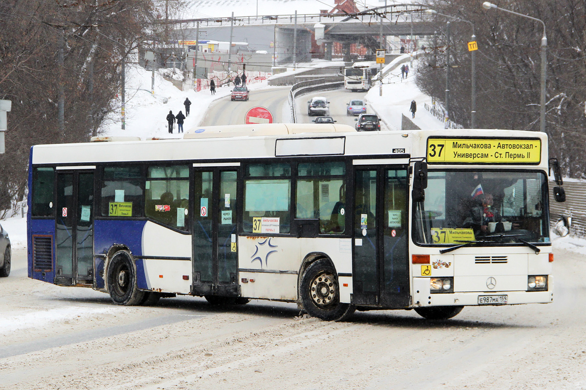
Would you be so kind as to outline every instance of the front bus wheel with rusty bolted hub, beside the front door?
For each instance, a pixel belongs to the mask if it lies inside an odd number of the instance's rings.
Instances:
[[[336,270],[325,258],[310,264],[303,273],[299,298],[309,315],[325,321],[346,320],[356,310],[350,303],[340,303]]]

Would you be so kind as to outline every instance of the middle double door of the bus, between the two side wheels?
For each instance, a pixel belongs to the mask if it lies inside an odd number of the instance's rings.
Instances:
[[[237,177],[234,168],[196,170],[193,294],[238,296]]]

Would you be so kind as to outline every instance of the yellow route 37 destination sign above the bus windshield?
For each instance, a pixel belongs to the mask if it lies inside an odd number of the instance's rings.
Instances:
[[[427,139],[428,163],[539,164],[539,139]]]

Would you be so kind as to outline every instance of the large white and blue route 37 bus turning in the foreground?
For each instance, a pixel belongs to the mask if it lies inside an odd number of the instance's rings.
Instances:
[[[119,305],[297,302],[323,320],[553,299],[544,133],[271,124],[97,140],[31,149],[30,278]]]

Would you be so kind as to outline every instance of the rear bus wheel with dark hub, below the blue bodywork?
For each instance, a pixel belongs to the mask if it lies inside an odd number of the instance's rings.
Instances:
[[[117,305],[135,306],[144,299],[145,292],[137,287],[137,270],[125,250],[114,253],[108,264],[108,292]]]

